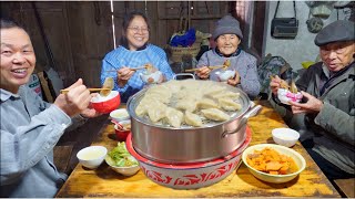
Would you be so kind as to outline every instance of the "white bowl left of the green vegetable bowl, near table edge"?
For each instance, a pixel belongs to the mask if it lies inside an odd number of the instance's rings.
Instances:
[[[103,146],[89,146],[79,150],[77,158],[82,166],[95,169],[102,164],[108,149]]]

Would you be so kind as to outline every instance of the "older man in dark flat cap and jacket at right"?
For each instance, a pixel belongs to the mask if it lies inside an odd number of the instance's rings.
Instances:
[[[291,127],[329,179],[355,176],[354,22],[335,21],[315,38],[322,62],[296,82],[305,103],[290,102]],[[281,80],[270,83],[273,101]]]

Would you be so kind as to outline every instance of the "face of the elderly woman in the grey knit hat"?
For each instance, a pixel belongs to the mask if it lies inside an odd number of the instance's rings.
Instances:
[[[235,34],[222,34],[216,40],[216,46],[223,55],[231,55],[240,45],[241,40]]]

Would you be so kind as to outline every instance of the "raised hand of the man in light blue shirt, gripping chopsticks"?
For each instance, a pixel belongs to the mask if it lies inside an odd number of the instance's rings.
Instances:
[[[61,108],[68,116],[73,117],[88,108],[92,96],[87,86],[83,85],[81,78],[67,90],[69,90],[69,92],[67,94],[60,94],[53,104]]]

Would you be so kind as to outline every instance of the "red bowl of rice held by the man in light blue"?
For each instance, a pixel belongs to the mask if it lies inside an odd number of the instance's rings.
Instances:
[[[121,97],[118,91],[111,91],[111,93],[102,97],[98,95],[91,98],[91,106],[100,113],[108,114],[120,106]]]

